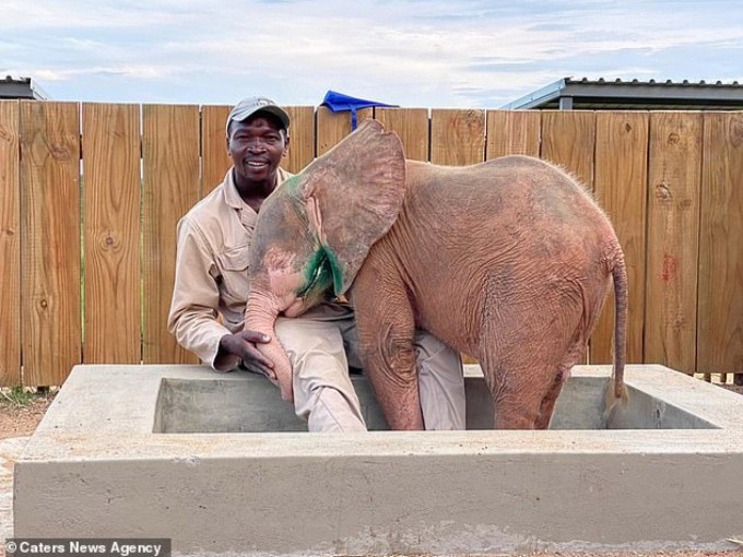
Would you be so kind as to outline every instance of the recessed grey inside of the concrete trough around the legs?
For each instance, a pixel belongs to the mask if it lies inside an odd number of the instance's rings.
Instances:
[[[389,429],[369,384],[353,377],[370,430]],[[628,387],[629,405],[603,417],[603,377],[573,377],[557,401],[551,429],[715,429],[709,422]],[[467,378],[468,429],[490,429],[493,405],[482,377]],[[163,378],[154,416],[155,434],[224,434],[306,431],[291,404],[275,389],[256,389],[252,381]]]

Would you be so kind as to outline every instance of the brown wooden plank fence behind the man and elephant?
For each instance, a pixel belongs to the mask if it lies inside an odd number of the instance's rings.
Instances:
[[[61,384],[80,363],[191,363],[166,329],[178,218],[219,183],[228,106],[0,102],[0,384]],[[351,131],[288,107],[288,170]],[[629,274],[628,362],[743,370],[743,114],[366,109],[406,156],[509,153],[580,177]],[[84,179],[83,179],[84,176]],[[611,353],[611,311],[590,362]]]

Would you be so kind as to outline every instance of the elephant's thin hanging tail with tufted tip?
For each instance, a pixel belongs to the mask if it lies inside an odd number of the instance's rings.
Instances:
[[[618,404],[625,403],[628,399],[627,387],[624,384],[628,295],[627,268],[623,256],[620,256],[612,269],[612,278],[614,281],[614,365],[612,380],[606,389],[606,411],[604,413],[606,419]]]

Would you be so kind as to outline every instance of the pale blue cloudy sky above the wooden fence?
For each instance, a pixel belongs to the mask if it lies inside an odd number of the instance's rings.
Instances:
[[[498,108],[563,78],[743,83],[741,0],[0,0],[50,99]]]

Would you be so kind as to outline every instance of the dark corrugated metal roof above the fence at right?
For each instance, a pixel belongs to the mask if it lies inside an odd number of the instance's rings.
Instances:
[[[591,81],[563,78],[504,109],[743,110],[743,85],[700,81]]]

